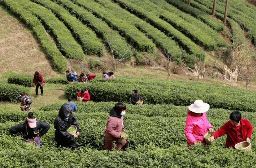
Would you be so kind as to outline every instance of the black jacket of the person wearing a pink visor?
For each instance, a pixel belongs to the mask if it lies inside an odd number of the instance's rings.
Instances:
[[[23,121],[22,123],[19,123],[16,126],[13,126],[9,129],[9,132],[11,135],[22,135],[25,139],[28,138],[35,138],[38,133],[40,133],[40,136],[47,133],[47,131],[50,129],[50,125],[46,122],[38,121],[36,120],[37,127],[35,128],[29,128],[27,126],[27,120]]]

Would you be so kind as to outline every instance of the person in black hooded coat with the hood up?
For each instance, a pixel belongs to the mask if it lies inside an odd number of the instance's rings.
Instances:
[[[55,141],[57,142],[57,147],[77,148],[75,138],[78,137],[81,129],[79,128],[77,119],[73,115],[72,110],[73,108],[69,104],[63,104],[59,110],[59,114],[54,120]],[[69,129],[71,125],[77,127],[77,133],[75,135],[71,135],[67,132],[67,129]]]

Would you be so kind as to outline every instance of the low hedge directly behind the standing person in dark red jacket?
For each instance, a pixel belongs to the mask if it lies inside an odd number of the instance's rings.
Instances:
[[[12,84],[17,84],[17,85],[22,85],[25,87],[33,87],[33,79],[34,75],[30,74],[17,74],[13,75],[8,78],[7,82],[12,83]],[[65,77],[57,77],[57,78],[44,78],[47,83],[55,83],[55,84],[67,84],[67,78]]]

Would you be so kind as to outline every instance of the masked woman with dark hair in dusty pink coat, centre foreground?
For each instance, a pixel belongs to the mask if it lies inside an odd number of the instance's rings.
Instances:
[[[118,142],[118,138],[123,138],[121,131],[124,130],[123,115],[125,115],[125,111],[126,105],[122,102],[115,104],[115,106],[110,110],[110,117],[106,123],[107,128],[104,131],[104,149],[112,150],[113,147],[115,147],[116,150],[125,150],[126,147],[128,147],[126,140],[123,143]]]

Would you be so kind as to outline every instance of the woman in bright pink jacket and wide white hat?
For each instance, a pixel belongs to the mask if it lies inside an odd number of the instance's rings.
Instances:
[[[206,144],[203,136],[209,131],[213,131],[213,126],[206,118],[206,112],[210,105],[201,100],[196,100],[189,106],[184,134],[187,138],[187,146],[192,144]]]

